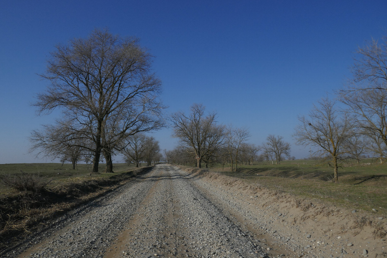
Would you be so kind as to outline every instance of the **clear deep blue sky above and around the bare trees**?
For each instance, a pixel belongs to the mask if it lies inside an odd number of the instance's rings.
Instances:
[[[55,44],[94,28],[135,36],[155,56],[168,113],[203,103],[219,123],[249,128],[250,142],[291,138],[297,116],[351,77],[354,51],[387,29],[385,0],[2,1],[0,8],[0,164],[50,162],[28,154],[31,130],[59,113],[30,106],[48,82]],[[154,133],[173,149],[171,130]]]

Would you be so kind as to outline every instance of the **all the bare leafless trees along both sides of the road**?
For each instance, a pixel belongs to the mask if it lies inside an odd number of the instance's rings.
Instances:
[[[337,169],[348,159],[365,153],[387,158],[387,38],[359,48],[353,79],[337,93],[324,98],[310,114],[299,117],[294,138],[297,144],[313,145],[313,155]],[[55,109],[62,116],[31,134],[32,151],[38,150],[62,162],[80,160],[98,172],[101,159],[105,172],[113,172],[113,155],[123,154],[127,162],[139,165],[160,159],[158,142],[144,135],[165,126],[159,100],[161,82],[152,72],[152,56],[135,38],[121,38],[107,29],[94,30],[86,39],[58,44],[40,75],[50,85],[38,94],[34,106],[39,114]],[[281,162],[290,155],[290,144],[269,135],[260,146],[248,143],[246,128],[217,124],[216,113],[205,113],[193,104],[190,114],[172,114],[173,136],[180,140],[175,150],[165,152],[169,162],[196,161],[197,167],[214,162],[250,163],[258,151],[269,162]],[[311,154],[312,155],[312,154]]]

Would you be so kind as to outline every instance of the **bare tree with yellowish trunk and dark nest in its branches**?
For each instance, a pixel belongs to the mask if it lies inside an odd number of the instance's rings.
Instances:
[[[335,102],[327,98],[314,106],[308,117],[300,116],[300,124],[293,135],[297,144],[317,147],[315,154],[324,157],[334,169],[334,182],[339,181],[338,161],[350,157],[348,139],[353,125],[347,114],[335,109]]]

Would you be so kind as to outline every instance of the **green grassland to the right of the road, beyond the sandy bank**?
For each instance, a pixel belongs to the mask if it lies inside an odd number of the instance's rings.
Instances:
[[[339,183],[331,181],[333,169],[317,161],[281,161],[281,164],[260,163],[238,165],[237,172],[216,166],[228,176],[247,183],[262,185],[296,196],[313,198],[356,210],[375,212],[387,217],[387,164],[365,159],[360,164],[343,164]]]

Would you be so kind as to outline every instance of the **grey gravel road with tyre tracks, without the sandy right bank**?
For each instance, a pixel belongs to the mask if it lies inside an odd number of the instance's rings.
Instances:
[[[192,174],[159,164],[5,257],[267,257],[199,188]]]

